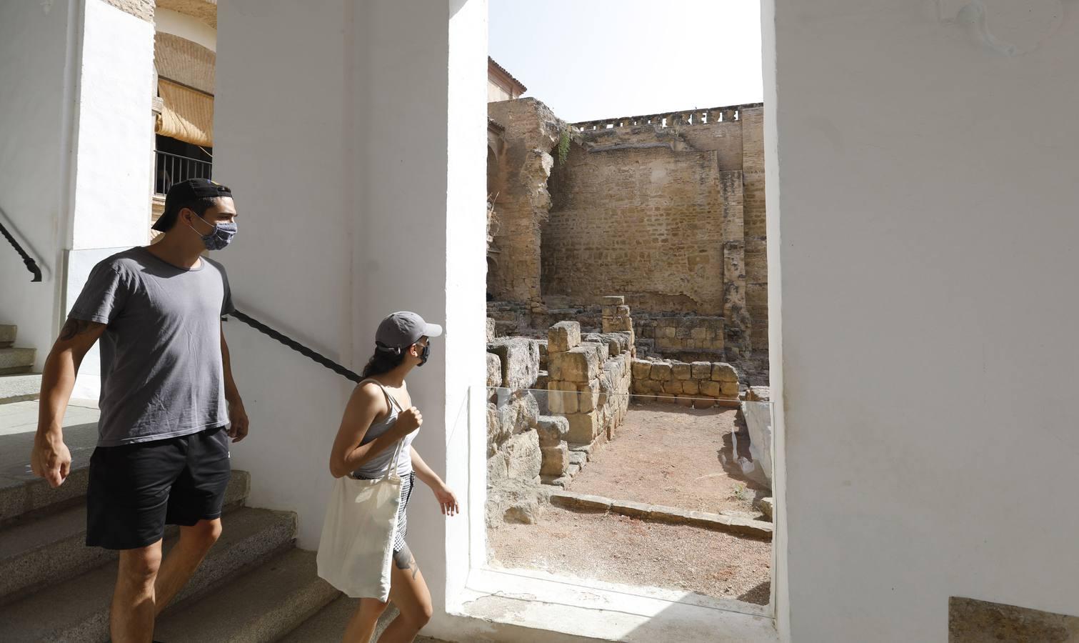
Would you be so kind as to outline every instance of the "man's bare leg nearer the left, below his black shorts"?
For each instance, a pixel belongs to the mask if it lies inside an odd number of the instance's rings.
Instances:
[[[120,572],[109,611],[113,643],[150,643],[153,640],[153,584],[160,566],[161,541],[120,551]]]

